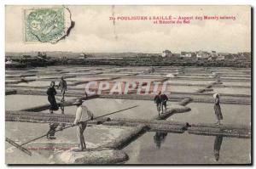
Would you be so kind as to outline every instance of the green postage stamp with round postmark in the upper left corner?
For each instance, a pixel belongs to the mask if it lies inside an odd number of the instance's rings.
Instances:
[[[55,43],[67,36],[71,15],[67,8],[25,9],[25,41]]]

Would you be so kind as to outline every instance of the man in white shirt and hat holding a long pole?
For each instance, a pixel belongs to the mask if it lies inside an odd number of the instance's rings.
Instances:
[[[73,125],[77,126],[77,134],[79,138],[79,150],[82,151],[86,149],[86,145],[84,142],[84,130],[87,126],[86,121],[93,120],[93,114],[88,108],[83,104],[81,99],[77,99],[76,102],[73,103],[77,106],[76,118],[73,121]]]

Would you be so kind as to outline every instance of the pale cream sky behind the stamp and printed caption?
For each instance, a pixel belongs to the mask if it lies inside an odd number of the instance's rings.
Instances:
[[[67,6],[75,22],[56,44],[24,42],[24,9],[6,6],[6,52],[144,52],[216,50],[251,51],[249,6]],[[154,25],[149,20],[109,20],[110,16],[235,16],[236,20],[191,20],[190,24]]]

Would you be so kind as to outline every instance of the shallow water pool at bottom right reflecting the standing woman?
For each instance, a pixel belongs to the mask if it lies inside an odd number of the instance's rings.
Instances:
[[[147,132],[125,147],[126,164],[247,164],[251,140],[223,138],[218,161],[214,156],[215,136],[184,132]]]

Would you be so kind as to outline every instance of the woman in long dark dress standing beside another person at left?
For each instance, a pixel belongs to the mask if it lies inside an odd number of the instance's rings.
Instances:
[[[50,82],[50,87],[47,90],[48,94],[48,101],[49,101],[49,113],[52,114],[54,110],[59,110],[59,106],[56,103],[55,95],[56,95],[56,90],[55,90],[55,82]]]

